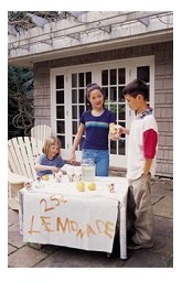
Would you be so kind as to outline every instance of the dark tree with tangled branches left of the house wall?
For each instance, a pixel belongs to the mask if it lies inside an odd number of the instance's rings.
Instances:
[[[8,139],[28,135],[33,126],[33,73],[8,67]]]

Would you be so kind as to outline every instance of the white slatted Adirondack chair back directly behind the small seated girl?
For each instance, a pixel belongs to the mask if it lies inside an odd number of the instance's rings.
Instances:
[[[36,141],[41,141],[41,148],[39,148],[40,151],[42,150],[45,139],[51,137],[51,127],[46,124],[39,124],[31,129],[31,137]]]

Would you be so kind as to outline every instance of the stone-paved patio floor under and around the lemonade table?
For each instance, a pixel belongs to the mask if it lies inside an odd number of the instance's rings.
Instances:
[[[119,258],[118,240],[110,258],[104,252],[24,243],[19,232],[19,213],[8,209],[8,268],[173,268],[173,182],[152,182],[156,243],[151,249],[128,250]]]

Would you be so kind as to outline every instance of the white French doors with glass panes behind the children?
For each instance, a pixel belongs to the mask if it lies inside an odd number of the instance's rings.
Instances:
[[[154,57],[146,56],[109,63],[56,68],[51,70],[51,118],[54,133],[62,142],[62,156],[69,159],[81,113],[86,109],[85,90],[89,83],[97,83],[105,91],[105,106],[117,115],[117,122],[129,128],[133,112],[122,97],[124,87],[135,78],[149,85],[149,102],[154,105]],[[127,137],[109,141],[110,165],[126,167]],[[81,161],[82,142],[77,148]]]

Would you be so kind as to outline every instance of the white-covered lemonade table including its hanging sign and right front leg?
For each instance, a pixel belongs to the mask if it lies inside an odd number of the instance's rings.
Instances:
[[[125,177],[96,177],[96,191],[85,183],[85,192],[78,192],[66,176],[61,183],[42,183],[19,193],[23,241],[111,252],[119,218],[120,258],[127,258]],[[114,192],[109,192],[110,184]]]

